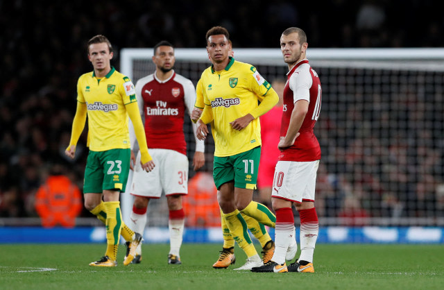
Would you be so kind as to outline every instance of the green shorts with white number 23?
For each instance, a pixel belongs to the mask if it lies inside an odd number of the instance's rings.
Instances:
[[[83,193],[101,194],[103,190],[125,191],[130,171],[130,149],[89,151]]]

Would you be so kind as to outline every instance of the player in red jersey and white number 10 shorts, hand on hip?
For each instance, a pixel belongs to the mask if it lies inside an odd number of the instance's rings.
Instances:
[[[319,230],[314,193],[321,148],[313,128],[321,110],[321,82],[306,58],[307,47],[307,35],[300,28],[287,28],[280,37],[289,72],[271,195],[276,212],[275,253],[268,264],[252,268],[254,272],[314,272],[313,253]],[[295,232],[293,204],[300,216],[301,253],[287,267],[285,256]]]

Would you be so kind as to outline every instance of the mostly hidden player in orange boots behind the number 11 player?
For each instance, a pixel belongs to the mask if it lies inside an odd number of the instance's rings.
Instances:
[[[231,47],[228,55],[234,57],[234,52],[232,51],[232,45],[230,40],[229,43]],[[194,104],[194,109],[191,112],[191,121],[196,123],[196,121],[199,119],[200,115],[202,114],[204,107],[205,103],[203,103],[202,83],[199,80],[196,85],[196,103]],[[255,238],[259,241],[259,243],[262,246],[262,252],[261,252],[262,262],[264,262],[264,264],[268,263],[271,257],[273,257],[274,248],[275,248],[274,241],[271,239],[270,235],[268,234],[266,228],[264,227],[264,225],[262,225],[262,223],[258,223],[255,219],[251,218],[250,216],[242,214],[242,212],[241,215],[247,223],[248,230],[250,230],[250,232],[255,236]],[[228,268],[228,266],[236,262],[236,257],[234,256],[234,238],[232,237],[230,229],[228,228],[228,225],[225,219],[223,218],[222,210],[221,210],[221,228],[223,234],[223,246],[222,250],[220,251],[219,259],[217,259],[217,261],[213,264],[213,268]]]

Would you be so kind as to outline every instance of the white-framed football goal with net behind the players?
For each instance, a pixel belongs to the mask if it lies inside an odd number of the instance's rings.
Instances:
[[[152,56],[152,49],[123,49],[121,72],[136,83],[155,70]],[[288,71],[279,49],[234,49],[234,58],[272,84]],[[444,49],[309,49],[307,58],[323,87],[315,126],[320,224],[443,226]],[[176,49],[175,71],[194,85],[208,66],[205,49]],[[184,130],[192,160],[188,118]],[[211,137],[205,152],[211,173]],[[191,165],[189,172],[193,178]],[[148,226],[166,226],[167,212],[166,198],[151,201]],[[203,219],[197,225],[205,226]]]

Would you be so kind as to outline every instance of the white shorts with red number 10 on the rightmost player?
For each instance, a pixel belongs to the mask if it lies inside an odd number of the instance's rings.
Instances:
[[[287,201],[314,201],[319,160],[278,161],[271,196]]]

